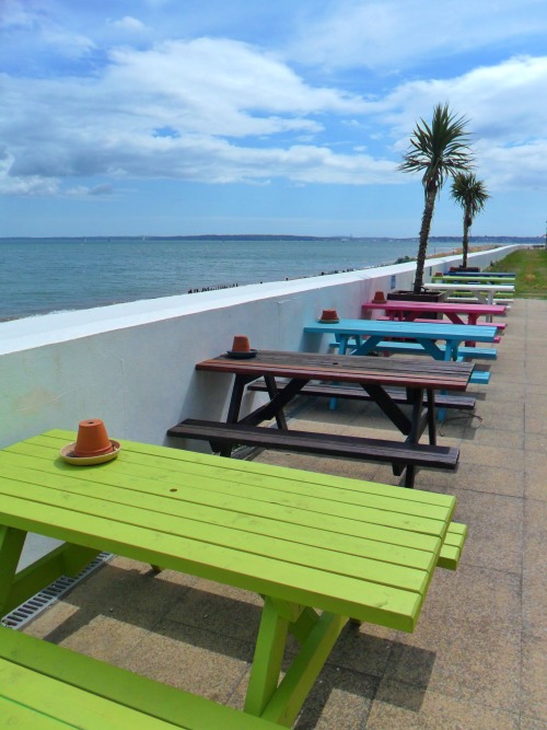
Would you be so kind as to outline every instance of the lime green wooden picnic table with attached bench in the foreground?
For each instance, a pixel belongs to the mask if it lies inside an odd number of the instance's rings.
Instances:
[[[452,496],[125,440],[117,459],[75,466],[59,456],[74,439],[53,430],[0,451],[0,615],[107,551],[259,593],[261,623],[243,714],[0,627],[0,676],[15,677],[4,717],[36,714],[21,727],[60,728],[37,722],[53,703],[70,727],[126,727],[120,705],[155,718],[127,727],[289,727],[348,618],[411,631],[465,541]],[[16,572],[31,532],[63,542]],[[289,634],[301,648],[281,679]]]

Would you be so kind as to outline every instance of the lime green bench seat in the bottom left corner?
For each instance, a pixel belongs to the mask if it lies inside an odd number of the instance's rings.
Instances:
[[[0,626],[0,727],[274,730],[280,726]]]

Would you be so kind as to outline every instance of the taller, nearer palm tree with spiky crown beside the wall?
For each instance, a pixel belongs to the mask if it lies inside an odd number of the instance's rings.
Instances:
[[[449,104],[438,104],[433,108],[431,126],[423,119],[410,137],[410,148],[399,165],[401,172],[421,172],[426,195],[421,217],[420,243],[416,262],[414,292],[420,293],[423,283],[423,267],[428,251],[429,231],[435,207],[437,195],[446,182],[458,172],[468,172],[473,166],[467,119],[457,117]]]

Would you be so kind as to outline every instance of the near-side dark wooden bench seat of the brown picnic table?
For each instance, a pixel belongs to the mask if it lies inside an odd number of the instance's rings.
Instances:
[[[424,443],[408,443],[315,431],[296,431],[241,424],[223,424],[187,418],[168,429],[167,436],[209,441],[212,451],[235,445],[313,453],[323,456],[389,463],[395,474],[406,466],[405,486],[414,486],[415,467],[457,468],[459,449]]]

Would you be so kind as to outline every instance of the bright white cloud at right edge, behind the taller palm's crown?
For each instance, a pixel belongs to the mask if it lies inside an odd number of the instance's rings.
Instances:
[[[512,58],[454,79],[401,84],[377,108],[393,124],[400,152],[416,121],[430,119],[433,106],[447,101],[456,114],[469,119],[477,172],[492,187],[545,188],[545,173],[536,159],[547,146],[545,89],[547,57]]]

